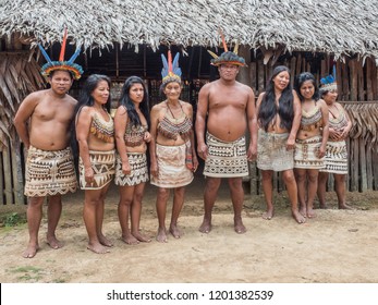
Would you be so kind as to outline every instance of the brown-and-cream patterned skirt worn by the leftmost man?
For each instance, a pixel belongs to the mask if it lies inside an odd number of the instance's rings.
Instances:
[[[33,146],[27,151],[25,192],[28,197],[64,195],[77,187],[71,148],[41,150]]]

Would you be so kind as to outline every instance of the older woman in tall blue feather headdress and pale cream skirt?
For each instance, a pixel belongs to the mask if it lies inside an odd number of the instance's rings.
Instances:
[[[156,239],[163,243],[167,242],[166,212],[170,190],[173,188],[173,207],[169,232],[179,239],[178,219],[184,204],[185,185],[193,181],[198,160],[194,149],[193,108],[191,103],[180,100],[179,53],[173,63],[170,51],[168,62],[163,54],[161,58],[161,90],[167,99],[151,109],[150,167],[151,184],[158,186],[156,208],[159,229]]]

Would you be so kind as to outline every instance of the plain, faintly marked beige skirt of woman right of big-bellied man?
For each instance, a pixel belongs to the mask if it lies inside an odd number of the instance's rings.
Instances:
[[[285,171],[294,168],[294,150],[286,150],[289,133],[276,134],[258,130],[257,168]]]

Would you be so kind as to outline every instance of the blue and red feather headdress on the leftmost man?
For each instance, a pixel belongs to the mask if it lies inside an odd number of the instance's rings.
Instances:
[[[66,44],[66,28],[64,29],[64,35],[63,35],[63,41],[62,41],[62,47],[60,50],[60,56],[59,56],[59,61],[52,61],[48,53],[45,51],[42,46],[38,44],[38,47],[45,57],[47,63],[45,63],[41,68],[41,73],[44,76],[49,77],[52,71],[56,70],[63,70],[63,71],[69,71],[74,80],[78,80],[82,74],[83,74],[83,68],[76,63],[74,63],[75,59],[78,57],[81,52],[81,48],[77,48],[74,54],[68,60],[64,60],[64,53],[65,53],[65,44]]]

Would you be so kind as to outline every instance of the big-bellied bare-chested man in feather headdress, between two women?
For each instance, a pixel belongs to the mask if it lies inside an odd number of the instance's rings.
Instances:
[[[224,44],[225,45],[225,44]],[[225,51],[211,64],[218,66],[220,78],[206,84],[199,91],[196,114],[197,152],[205,160],[206,176],[203,233],[211,230],[211,211],[222,178],[228,179],[234,210],[234,230],[245,233],[242,221],[244,191],[242,178],[248,175],[248,160],[256,157],[257,120],[255,95],[251,87],[236,82],[240,66],[245,66],[243,58]],[[206,122],[206,115],[207,122]],[[207,123],[205,142],[205,123]],[[252,135],[246,152],[245,132]]]

